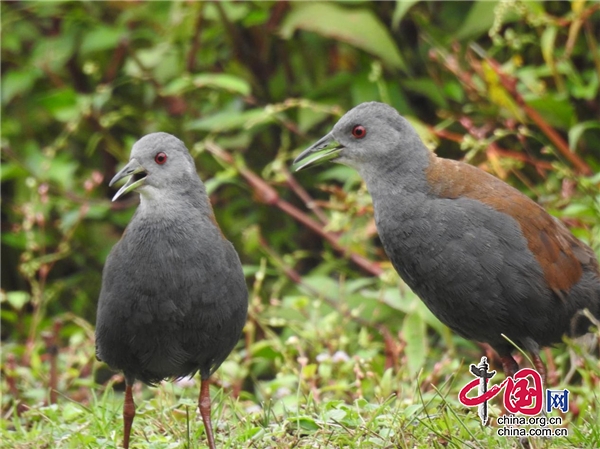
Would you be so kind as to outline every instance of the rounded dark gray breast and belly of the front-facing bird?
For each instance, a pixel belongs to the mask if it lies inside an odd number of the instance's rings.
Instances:
[[[239,338],[241,264],[209,217],[136,216],[104,268],[98,355],[146,382],[208,372]]]

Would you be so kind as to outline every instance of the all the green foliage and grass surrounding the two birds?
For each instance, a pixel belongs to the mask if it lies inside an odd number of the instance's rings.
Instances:
[[[245,338],[215,376],[220,445],[517,444],[458,404],[485,348],[399,280],[358,175],[290,164],[346,110],[384,101],[600,253],[599,3],[1,8],[2,447],[120,441],[123,379],[95,361],[93,326],[138,198],[111,203],[107,183],[159,130],[190,148],[251,286]],[[571,389],[570,436],[530,447],[600,446],[598,359],[568,347],[545,357]],[[195,382],[138,390],[136,447],[203,446]]]

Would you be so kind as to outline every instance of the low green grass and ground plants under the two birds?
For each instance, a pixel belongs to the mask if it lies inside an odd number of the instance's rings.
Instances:
[[[253,335],[260,329],[263,338],[240,343],[214,376],[212,416],[218,447],[520,447],[517,437],[496,435],[495,419],[491,426],[482,427],[476,409],[458,402],[458,390],[472,379],[468,365],[481,356],[477,346],[451,336],[453,346],[448,349],[429,329],[430,348],[422,367],[413,374],[406,359],[409,353],[402,350],[406,340],[401,333],[395,339],[400,349],[397,364],[385,369],[384,346],[377,332],[357,326],[343,312],[327,309],[320,301],[302,298],[295,301],[300,303],[303,320],[275,318],[284,307],[289,314],[289,304],[283,305],[286,301],[272,301],[261,311],[261,319],[256,319],[253,309],[246,333]],[[61,348],[57,404],[43,405],[48,395],[48,363],[43,358],[33,357],[31,366],[18,367],[19,394],[30,406],[20,416],[10,405],[14,397],[3,376],[0,447],[120,446],[122,376],[97,385],[92,380],[94,372],[105,368],[95,361],[93,372],[82,376],[81,367],[93,360],[93,342],[84,335],[90,335],[89,328],[71,337],[76,344]],[[568,347],[580,357],[566,385],[561,379],[570,367]],[[334,355],[337,351],[341,352]],[[575,343],[552,350],[559,374],[552,387],[571,391],[571,410],[563,417],[569,436],[530,438],[529,447],[600,447],[600,366],[597,358],[586,354]],[[500,374],[493,382],[499,382],[498,378]],[[163,382],[157,388],[136,384],[132,447],[207,447],[196,411],[198,392],[196,378]],[[502,413],[498,396],[490,403],[490,416]],[[553,410],[550,416],[559,413]]]

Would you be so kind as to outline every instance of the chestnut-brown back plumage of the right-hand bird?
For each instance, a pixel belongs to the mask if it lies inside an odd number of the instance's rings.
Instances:
[[[466,197],[511,216],[520,226],[550,288],[562,297],[580,279],[583,266],[598,271],[595,254],[539,204],[500,179],[462,162],[432,156],[427,171],[441,198]]]

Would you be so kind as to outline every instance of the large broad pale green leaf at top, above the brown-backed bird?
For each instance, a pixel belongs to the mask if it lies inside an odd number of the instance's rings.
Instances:
[[[326,2],[292,5],[281,25],[284,39],[290,39],[298,29],[312,31],[371,53],[391,67],[406,68],[385,25],[371,11]]]

